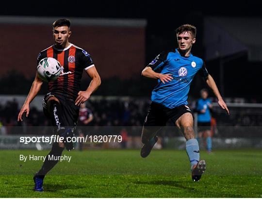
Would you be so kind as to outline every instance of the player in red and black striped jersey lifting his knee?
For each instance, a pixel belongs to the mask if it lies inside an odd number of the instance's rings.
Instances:
[[[43,99],[43,110],[45,115],[51,120],[55,127],[55,133],[61,137],[74,136],[80,104],[90,98],[90,95],[101,83],[97,69],[91,56],[85,50],[69,43],[71,36],[70,21],[59,19],[53,23],[54,45],[39,53],[37,64],[45,57],[52,57],[58,60],[62,66],[62,73],[56,81],[48,83],[48,93]],[[83,70],[92,79],[85,91],[80,91],[80,83]],[[22,121],[23,113],[29,115],[29,104],[39,92],[43,81],[37,73],[33,81],[31,90],[22,106],[18,121]],[[61,156],[64,148],[73,149],[72,142],[54,142],[48,156]],[[35,174],[33,180],[35,191],[43,191],[43,180],[45,175],[52,169],[58,161],[46,158],[41,169]]]

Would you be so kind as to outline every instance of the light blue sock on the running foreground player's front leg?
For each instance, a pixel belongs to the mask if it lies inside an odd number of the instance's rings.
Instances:
[[[192,168],[193,165],[196,165],[199,162],[199,146],[197,139],[186,141],[186,153]]]

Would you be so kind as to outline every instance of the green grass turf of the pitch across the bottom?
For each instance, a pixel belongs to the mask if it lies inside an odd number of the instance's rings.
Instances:
[[[262,197],[262,151],[201,151],[207,170],[193,182],[184,150],[153,150],[143,159],[139,150],[71,151],[46,176],[45,191],[33,191],[33,174],[41,161],[19,161],[19,155],[48,151],[0,150],[0,197],[21,198],[241,198]]]

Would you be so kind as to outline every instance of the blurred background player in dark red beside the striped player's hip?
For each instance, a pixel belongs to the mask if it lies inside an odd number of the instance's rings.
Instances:
[[[94,116],[92,111],[86,107],[85,102],[80,105],[79,119],[78,119],[78,134],[83,137],[86,132],[84,126],[87,126],[91,121],[93,121]],[[82,150],[83,143],[79,142],[79,150]]]

